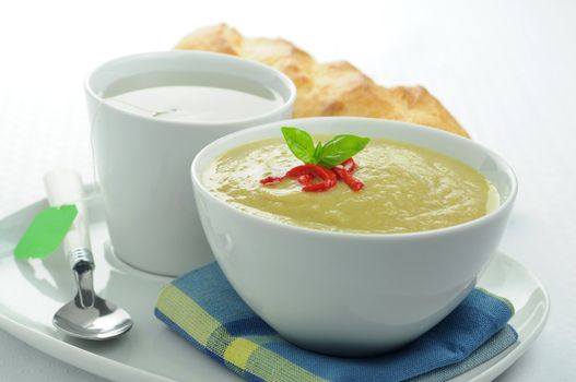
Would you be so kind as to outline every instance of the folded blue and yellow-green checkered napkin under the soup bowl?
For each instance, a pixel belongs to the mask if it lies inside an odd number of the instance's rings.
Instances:
[[[156,317],[195,347],[247,381],[446,381],[496,357],[518,336],[509,302],[474,289],[446,319],[403,348],[339,358],[282,339],[234,291],[216,263],[174,280]]]

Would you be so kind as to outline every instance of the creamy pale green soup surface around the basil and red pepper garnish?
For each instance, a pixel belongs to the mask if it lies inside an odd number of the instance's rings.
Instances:
[[[315,136],[322,142],[329,136]],[[203,174],[204,186],[232,205],[269,219],[321,230],[401,234],[444,228],[485,215],[499,204],[497,191],[477,170],[437,152],[372,139],[354,156],[364,189],[339,181],[326,192],[303,192],[284,180],[262,186],[302,165],[282,139],[228,151]]]

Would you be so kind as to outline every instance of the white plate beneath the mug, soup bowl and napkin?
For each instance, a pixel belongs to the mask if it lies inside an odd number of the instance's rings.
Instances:
[[[128,310],[134,326],[126,336],[107,343],[79,341],[57,332],[51,324],[52,314],[72,299],[75,290],[63,254],[27,262],[15,261],[12,255],[32,217],[45,206],[46,201],[40,201],[0,220],[1,329],[52,357],[113,381],[239,380],[154,318],[156,297],[171,279],[137,271],[111,254],[97,196],[87,203],[96,290]],[[494,256],[479,286],[514,303],[516,314],[510,324],[518,332],[519,342],[454,382],[496,378],[526,351],[548,318],[549,297],[540,280],[505,254]]]

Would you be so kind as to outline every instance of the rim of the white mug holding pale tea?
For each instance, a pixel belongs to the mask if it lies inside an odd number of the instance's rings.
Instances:
[[[107,103],[106,98],[102,97],[92,86],[91,82],[93,81],[94,76],[97,75],[97,73],[101,72],[102,70],[105,70],[107,67],[110,67],[110,65],[114,65],[114,64],[117,64],[117,63],[121,63],[122,61],[130,61],[130,60],[134,60],[134,59],[162,59],[162,58],[169,58],[169,57],[187,57],[187,58],[195,58],[196,57],[197,59],[201,59],[201,60],[220,60],[220,61],[228,62],[232,65],[234,65],[234,64],[242,64],[242,65],[255,68],[257,70],[270,72],[273,75],[275,75],[282,82],[283,86],[286,87],[289,97],[285,98],[285,99],[282,97],[284,99],[282,105],[278,106],[278,107],[273,108],[272,110],[269,110],[269,111],[267,111],[265,114],[257,115],[257,116],[254,116],[254,117],[248,117],[248,118],[243,118],[243,119],[231,119],[231,120],[223,120],[223,121],[183,121],[183,120],[177,120],[177,119],[176,120],[173,120],[173,119],[154,119],[152,117],[142,116],[142,115],[139,115],[139,114],[136,114],[136,112],[131,112],[131,111],[125,110],[122,108],[118,108],[118,107],[111,105],[110,103]],[[193,71],[193,69],[190,68],[190,71]],[[239,73],[240,74],[235,72],[234,74],[232,74],[232,73],[231,74],[232,75],[238,75],[238,76],[242,77],[242,71]],[[141,119],[141,120],[145,120],[145,121],[162,122],[162,123],[165,123],[167,126],[174,126],[174,127],[186,126],[186,127],[190,127],[190,128],[195,128],[195,127],[220,127],[220,126],[231,127],[231,126],[238,126],[238,124],[261,123],[262,121],[266,121],[270,117],[272,117],[272,116],[281,116],[286,110],[292,108],[294,103],[295,103],[295,100],[296,100],[296,94],[297,94],[296,85],[294,84],[294,82],[286,74],[282,73],[281,71],[279,71],[275,68],[272,68],[270,65],[266,65],[266,64],[260,63],[258,61],[248,60],[248,59],[244,59],[244,58],[232,56],[232,55],[219,53],[219,52],[214,52],[214,51],[203,51],[203,50],[176,50],[175,49],[175,50],[140,52],[140,53],[133,53],[133,55],[126,55],[126,56],[116,57],[114,59],[107,60],[107,61],[98,64],[97,67],[93,68],[89,72],[89,74],[85,75],[83,84],[84,84],[84,92],[86,93],[86,95],[89,95],[91,98],[93,98],[94,100],[96,100],[98,103],[98,106],[97,106],[98,108],[101,108],[101,107],[109,107],[113,110],[115,110],[115,111],[117,111],[117,112],[119,112],[121,115],[128,116],[130,118]]]

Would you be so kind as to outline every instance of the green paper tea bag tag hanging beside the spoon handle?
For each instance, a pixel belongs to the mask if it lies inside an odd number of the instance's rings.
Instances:
[[[34,217],[14,249],[17,259],[45,258],[56,251],[72,226],[74,204],[48,207]]]

